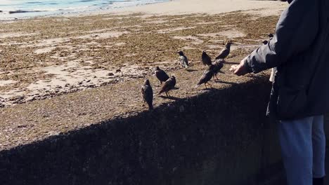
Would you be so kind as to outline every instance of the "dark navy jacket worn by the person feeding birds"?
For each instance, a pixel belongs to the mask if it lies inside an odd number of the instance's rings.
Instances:
[[[246,57],[258,73],[277,67],[268,115],[295,119],[329,112],[329,1],[294,0],[276,34]]]

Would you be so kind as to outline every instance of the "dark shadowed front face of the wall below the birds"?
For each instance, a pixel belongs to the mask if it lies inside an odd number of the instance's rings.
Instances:
[[[257,184],[280,171],[267,78],[0,153],[0,184]]]

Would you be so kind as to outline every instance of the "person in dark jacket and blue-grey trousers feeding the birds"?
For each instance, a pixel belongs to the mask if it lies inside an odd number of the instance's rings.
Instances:
[[[278,123],[288,185],[319,185],[329,112],[329,1],[288,3],[273,39],[230,70],[242,76],[277,67],[267,115]]]

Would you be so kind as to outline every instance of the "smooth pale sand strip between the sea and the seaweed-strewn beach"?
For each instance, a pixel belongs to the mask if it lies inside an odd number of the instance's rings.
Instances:
[[[221,4],[221,6],[218,6]],[[130,15],[130,14],[145,14],[145,15],[187,15],[187,14],[209,14],[215,15],[220,13],[229,13],[234,11],[253,11],[250,12],[262,16],[277,15],[287,6],[281,1],[250,1],[250,0],[231,0],[231,1],[216,1],[216,0],[169,0],[157,3],[149,3],[136,6],[127,6],[107,10],[93,10],[79,13],[56,13],[53,15],[37,15],[24,16],[21,18],[0,18],[1,22],[11,22],[16,20],[29,20],[36,18],[74,18],[81,16],[92,15]],[[200,8],[202,7],[202,8]],[[1,13],[1,12],[0,12]],[[4,12],[2,12],[4,13]],[[44,13],[41,11],[41,13]]]

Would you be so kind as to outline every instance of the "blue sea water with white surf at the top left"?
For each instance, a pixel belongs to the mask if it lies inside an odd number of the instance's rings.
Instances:
[[[106,11],[169,0],[0,0],[0,20]]]

